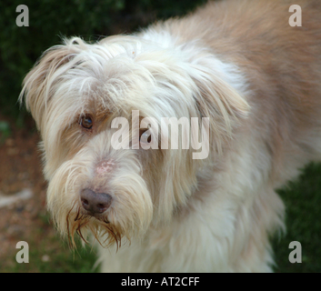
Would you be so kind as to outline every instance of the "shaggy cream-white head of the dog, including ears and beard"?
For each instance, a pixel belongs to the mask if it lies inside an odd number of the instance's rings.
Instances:
[[[74,241],[91,230],[102,245],[120,245],[186,206],[248,109],[216,65],[204,50],[136,36],[95,45],[73,38],[45,52],[21,98],[43,139],[47,205],[62,234]],[[160,130],[162,117],[197,117],[200,133],[209,117],[209,155],[194,159],[181,134],[178,149],[162,148],[160,140],[172,138]]]

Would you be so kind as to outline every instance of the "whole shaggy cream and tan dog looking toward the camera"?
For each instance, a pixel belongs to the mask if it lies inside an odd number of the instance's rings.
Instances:
[[[103,272],[273,271],[276,189],[321,157],[320,15],[314,0],[216,1],[49,48],[19,98],[62,236],[92,237]],[[172,117],[189,129],[161,131]]]

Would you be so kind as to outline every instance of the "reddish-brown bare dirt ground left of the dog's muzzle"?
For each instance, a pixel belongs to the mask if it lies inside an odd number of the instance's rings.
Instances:
[[[35,239],[35,232],[55,232],[45,222],[45,189],[40,153],[37,149],[39,135],[35,123],[27,118],[23,128],[15,121],[0,115],[0,120],[10,125],[11,135],[0,144],[0,195],[14,197],[23,189],[30,189],[33,196],[0,207],[0,262],[10,266],[8,257],[14,256],[18,241]],[[1,135],[1,134],[0,134]],[[45,232],[44,232],[45,230]]]

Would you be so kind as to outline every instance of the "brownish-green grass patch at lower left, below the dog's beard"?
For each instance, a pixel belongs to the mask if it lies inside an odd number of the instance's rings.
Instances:
[[[15,255],[21,249],[13,247],[0,262],[0,273],[95,273],[95,248],[83,246],[80,239],[75,237],[76,248],[71,249],[66,239],[53,229],[48,213],[38,214],[37,225],[32,232],[21,240],[28,243],[29,262],[17,263]]]

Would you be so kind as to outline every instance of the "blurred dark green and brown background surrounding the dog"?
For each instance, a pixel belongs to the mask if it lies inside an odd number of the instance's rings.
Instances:
[[[17,104],[23,78],[61,36],[96,41],[127,34],[170,16],[186,15],[206,0],[1,0],[0,1],[0,272],[96,272],[95,250],[72,252],[45,210],[46,183],[39,135]],[[17,26],[18,5],[29,26]],[[237,20],[236,20],[237,21]],[[279,191],[286,202],[287,232],[273,239],[276,272],[321,272],[321,166],[310,165]],[[29,245],[29,263],[18,264],[16,243]],[[302,264],[289,263],[289,244],[302,245]]]

